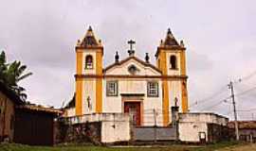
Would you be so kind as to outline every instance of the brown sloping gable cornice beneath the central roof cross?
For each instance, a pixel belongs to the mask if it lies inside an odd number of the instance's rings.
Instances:
[[[112,64],[110,64],[109,66],[107,66],[103,71],[106,72],[107,70],[111,69],[112,67],[115,67],[116,65],[121,65],[127,61],[129,61],[130,59],[135,59],[137,60],[137,62],[141,63],[142,65],[144,66],[148,66],[148,67],[151,67],[153,68],[155,71],[157,71],[158,73],[162,73],[157,67],[155,67],[155,65],[151,64],[151,63],[148,63],[148,62],[145,62],[144,60],[142,59],[138,59],[137,57],[135,56],[130,56],[126,59],[122,59],[120,60],[119,62],[114,62]]]

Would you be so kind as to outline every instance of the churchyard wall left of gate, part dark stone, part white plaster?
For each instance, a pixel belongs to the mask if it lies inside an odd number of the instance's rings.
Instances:
[[[131,140],[130,118],[123,113],[64,117],[55,125],[55,143],[100,144]]]

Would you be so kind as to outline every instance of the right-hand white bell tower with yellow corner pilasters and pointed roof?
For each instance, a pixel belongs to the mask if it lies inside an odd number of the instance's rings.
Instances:
[[[156,66],[162,71],[163,82],[163,123],[170,123],[170,109],[180,107],[180,111],[188,111],[186,48],[178,43],[169,28],[165,40],[161,40],[155,54]]]

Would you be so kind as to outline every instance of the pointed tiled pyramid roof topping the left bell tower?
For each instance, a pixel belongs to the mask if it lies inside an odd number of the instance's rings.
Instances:
[[[82,39],[82,42],[80,42],[80,46],[88,47],[88,46],[100,46],[101,42],[98,42],[97,39],[94,36],[93,29],[91,26],[89,26],[85,37]]]

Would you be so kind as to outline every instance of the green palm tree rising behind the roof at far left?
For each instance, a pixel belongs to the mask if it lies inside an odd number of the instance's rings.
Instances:
[[[7,88],[16,92],[23,101],[27,99],[27,94],[25,93],[25,89],[18,85],[18,82],[32,75],[32,73],[25,74],[26,69],[27,66],[22,65],[20,61],[15,60],[11,63],[7,63],[4,51],[0,54],[0,81],[4,83]]]

